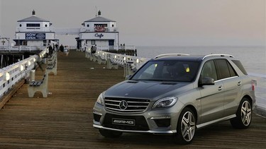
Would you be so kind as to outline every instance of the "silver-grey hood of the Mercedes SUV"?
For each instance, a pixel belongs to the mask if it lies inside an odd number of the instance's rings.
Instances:
[[[106,90],[105,97],[131,97],[153,99],[160,95],[170,93],[189,83],[155,82],[155,81],[123,81]]]

